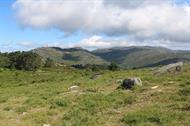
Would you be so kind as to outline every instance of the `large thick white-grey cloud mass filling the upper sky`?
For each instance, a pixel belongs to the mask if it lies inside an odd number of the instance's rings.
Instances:
[[[190,42],[190,7],[172,0],[17,0],[13,8],[25,27]]]

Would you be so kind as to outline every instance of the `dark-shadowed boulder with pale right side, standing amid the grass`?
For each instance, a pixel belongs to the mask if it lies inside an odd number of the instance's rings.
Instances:
[[[142,86],[142,81],[141,81],[140,78],[130,78],[130,79],[123,80],[121,88],[123,88],[123,89],[131,89],[135,85]]]

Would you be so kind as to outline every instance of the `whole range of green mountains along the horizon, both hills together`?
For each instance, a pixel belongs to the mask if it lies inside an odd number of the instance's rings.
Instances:
[[[190,51],[151,46],[114,47],[94,51],[82,48],[42,47],[34,49],[33,52],[60,63],[101,65],[115,62],[123,68],[153,67],[178,61],[190,61]]]

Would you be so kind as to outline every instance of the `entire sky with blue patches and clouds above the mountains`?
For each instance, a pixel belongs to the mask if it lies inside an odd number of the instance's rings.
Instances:
[[[0,0],[0,52],[47,46],[190,50],[190,0]]]

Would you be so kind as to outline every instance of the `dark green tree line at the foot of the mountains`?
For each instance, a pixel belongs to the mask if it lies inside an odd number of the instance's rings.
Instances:
[[[9,69],[17,69],[17,70],[26,70],[26,71],[35,71],[41,67],[54,67],[56,63],[47,58],[44,60],[40,55],[29,51],[29,52],[11,52],[11,53],[0,53],[0,68],[9,68]],[[72,67],[78,69],[91,69],[92,71],[99,70],[118,70],[118,66],[115,63],[110,63],[110,65],[82,65],[76,64],[72,65]]]

